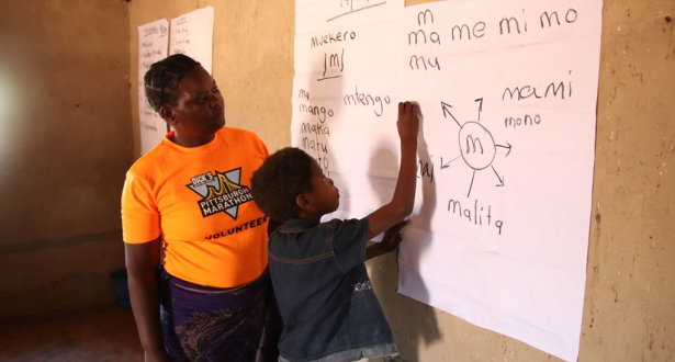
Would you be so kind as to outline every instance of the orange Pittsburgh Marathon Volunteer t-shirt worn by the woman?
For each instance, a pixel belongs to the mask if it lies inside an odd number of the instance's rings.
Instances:
[[[254,133],[224,127],[200,147],[168,137],[140,157],[122,193],[124,242],[165,242],[165,268],[216,287],[248,283],[267,268],[268,218],[250,178],[268,150]]]

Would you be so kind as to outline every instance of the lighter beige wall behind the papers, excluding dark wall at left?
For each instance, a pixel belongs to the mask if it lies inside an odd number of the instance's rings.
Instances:
[[[215,8],[214,77],[228,124],[255,131],[271,151],[289,146],[292,0],[133,1],[132,75],[138,25],[206,5]],[[580,362],[675,360],[673,16],[672,0],[605,0]],[[394,254],[369,262],[369,269],[403,361],[560,361],[396,294]]]

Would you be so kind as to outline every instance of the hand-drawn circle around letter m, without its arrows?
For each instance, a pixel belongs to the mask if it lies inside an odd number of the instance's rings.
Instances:
[[[497,154],[492,134],[477,122],[466,122],[462,125],[459,144],[464,162],[474,170],[487,168]]]

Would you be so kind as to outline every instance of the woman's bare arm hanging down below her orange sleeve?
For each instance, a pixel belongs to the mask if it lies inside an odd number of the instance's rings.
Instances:
[[[146,362],[170,362],[159,323],[157,270],[161,258],[161,237],[143,244],[124,244],[128,292]]]

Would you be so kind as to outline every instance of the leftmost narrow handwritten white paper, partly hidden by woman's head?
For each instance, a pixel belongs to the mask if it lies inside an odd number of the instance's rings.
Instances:
[[[167,57],[169,22],[166,19],[138,26],[138,120],[140,122],[140,154],[155,147],[167,134],[167,124],[153,110],[145,97],[143,77],[153,63]]]

